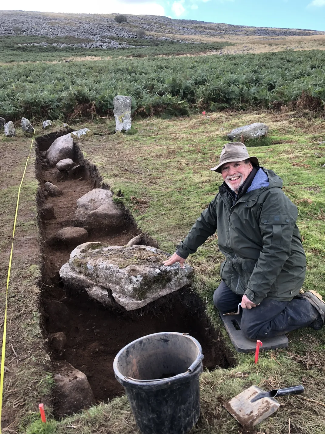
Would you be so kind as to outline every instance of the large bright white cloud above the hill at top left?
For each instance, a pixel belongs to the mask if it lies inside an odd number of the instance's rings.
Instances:
[[[8,9],[8,7],[6,8]],[[13,0],[10,10],[34,10],[62,13],[131,13],[134,15],[165,15],[164,7],[155,0]]]

